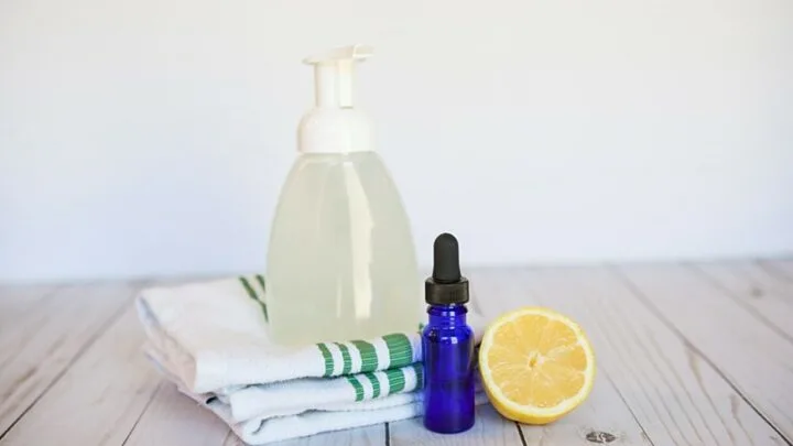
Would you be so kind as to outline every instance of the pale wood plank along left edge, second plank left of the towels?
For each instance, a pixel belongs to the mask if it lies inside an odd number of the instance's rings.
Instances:
[[[0,335],[0,438],[107,328],[133,291],[124,284],[68,287],[6,326]]]

